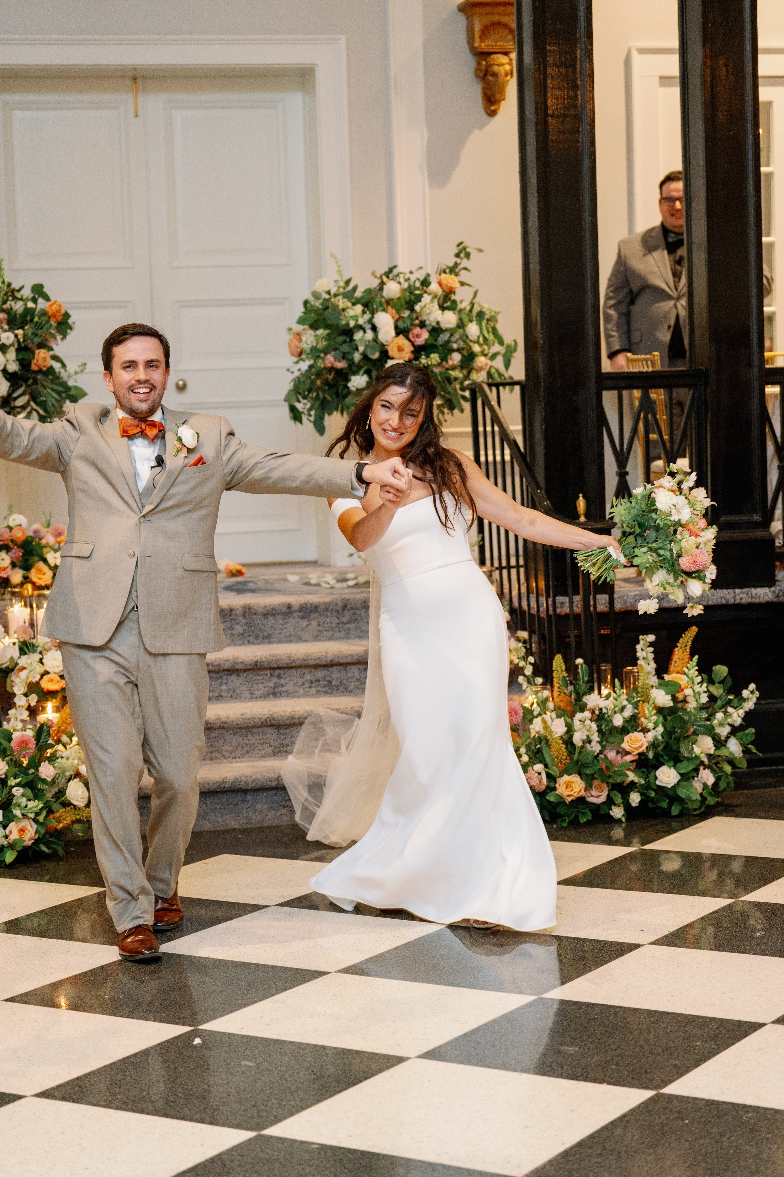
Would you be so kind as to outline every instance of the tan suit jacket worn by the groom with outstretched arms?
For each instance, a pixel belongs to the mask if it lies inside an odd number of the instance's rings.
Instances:
[[[166,406],[163,414],[166,470],[142,506],[116,410],[82,401],[46,425],[0,413],[0,457],[56,471],[68,492],[68,534],[46,610],[49,637],[103,645],[139,564],[139,619],[150,653],[222,650],[214,537],[223,491],[351,493],[349,461],[246,445],[225,417]],[[183,423],[199,443],[175,458],[174,434]],[[189,467],[196,454],[205,464]]]

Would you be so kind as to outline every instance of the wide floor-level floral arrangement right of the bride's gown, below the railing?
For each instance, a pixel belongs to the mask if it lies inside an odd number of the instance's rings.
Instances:
[[[726,666],[710,680],[691,657],[696,626],[672,651],[658,677],[654,636],[637,644],[638,686],[626,696],[599,694],[577,659],[569,680],[561,656],[552,664],[552,690],[532,678],[529,658],[518,681],[523,698],[510,700],[512,744],[542,817],[559,825],[609,814],[624,822],[629,810],[701,813],[733,787],[732,770],[745,769],[753,729],[744,717],[758,698],[753,683],[731,693]]]

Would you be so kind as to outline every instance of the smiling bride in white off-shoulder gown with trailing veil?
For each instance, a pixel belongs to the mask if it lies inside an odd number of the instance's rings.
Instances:
[[[619,548],[521,507],[445,448],[435,397],[427,370],[393,365],[330,447],[402,457],[414,479],[408,493],[371,486],[361,505],[331,501],[375,573],[364,711],[348,731],[343,717],[311,717],[283,776],[309,838],[359,839],[310,879],[337,906],[532,931],[555,923],[556,870],[511,745],[507,625],[471,557],[469,520],[478,512],[538,543]],[[314,799],[319,771],[327,784]]]

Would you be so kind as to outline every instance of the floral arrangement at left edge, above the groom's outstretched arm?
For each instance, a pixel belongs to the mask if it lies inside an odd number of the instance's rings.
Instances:
[[[45,305],[40,305],[45,304]],[[72,384],[86,365],[69,372],[54,347],[74,330],[62,302],[40,282],[25,293],[6,278],[0,260],[0,408],[12,417],[51,421],[66,403],[87,393]]]

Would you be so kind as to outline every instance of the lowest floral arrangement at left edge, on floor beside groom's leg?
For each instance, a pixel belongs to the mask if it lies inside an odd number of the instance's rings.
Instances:
[[[85,757],[73,732],[0,727],[0,863],[40,851],[62,857],[63,831],[89,822]]]

